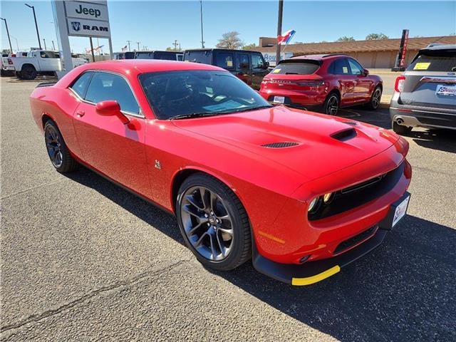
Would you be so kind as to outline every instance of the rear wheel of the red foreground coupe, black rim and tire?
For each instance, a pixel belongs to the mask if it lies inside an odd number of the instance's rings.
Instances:
[[[78,162],[71,156],[60,130],[52,120],[46,121],[44,125],[44,142],[49,159],[58,172],[66,173],[76,170]]]

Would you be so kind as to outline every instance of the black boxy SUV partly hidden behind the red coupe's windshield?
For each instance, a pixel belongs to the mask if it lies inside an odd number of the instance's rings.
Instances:
[[[260,52],[248,50],[222,48],[186,50],[184,61],[219,66],[257,90],[269,68],[269,63],[264,61]]]

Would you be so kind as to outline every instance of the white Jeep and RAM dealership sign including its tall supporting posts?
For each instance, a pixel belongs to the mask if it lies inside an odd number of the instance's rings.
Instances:
[[[52,9],[61,56],[59,78],[73,69],[69,36],[108,38],[113,58],[107,1],[53,0]]]

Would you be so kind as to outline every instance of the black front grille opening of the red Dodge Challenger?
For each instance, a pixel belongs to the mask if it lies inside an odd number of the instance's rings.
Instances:
[[[403,162],[384,175],[335,192],[333,200],[329,204],[321,204],[316,212],[309,213],[309,220],[341,214],[387,194],[398,184],[400,177],[404,174],[404,168],[405,163]]]

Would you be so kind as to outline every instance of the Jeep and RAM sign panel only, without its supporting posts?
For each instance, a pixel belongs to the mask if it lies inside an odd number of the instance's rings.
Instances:
[[[110,38],[106,1],[64,1],[68,36]]]

